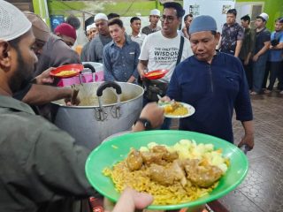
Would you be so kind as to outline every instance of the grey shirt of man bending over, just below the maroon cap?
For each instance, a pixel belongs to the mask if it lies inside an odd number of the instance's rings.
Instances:
[[[43,46],[34,77],[50,67],[58,67],[63,64],[80,64],[80,57],[60,37],[51,34],[50,39]]]

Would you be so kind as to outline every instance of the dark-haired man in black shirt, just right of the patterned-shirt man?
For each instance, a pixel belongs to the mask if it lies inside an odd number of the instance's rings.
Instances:
[[[241,59],[241,64],[244,66],[246,77],[249,84],[249,90],[252,89],[253,83],[253,72],[252,72],[252,62],[251,56],[255,46],[255,33],[249,27],[250,17],[245,15],[241,17],[241,27],[244,28],[244,39],[241,44],[241,51],[239,58]]]

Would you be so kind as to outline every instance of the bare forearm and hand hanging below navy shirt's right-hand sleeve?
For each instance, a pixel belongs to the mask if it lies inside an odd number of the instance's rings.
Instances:
[[[254,148],[254,123],[253,121],[244,121],[241,122],[241,125],[244,128],[245,134],[244,137],[241,139],[238,147],[241,148],[242,145],[247,145],[249,150]]]

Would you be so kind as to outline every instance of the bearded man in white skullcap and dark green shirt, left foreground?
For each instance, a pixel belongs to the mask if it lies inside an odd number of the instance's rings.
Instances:
[[[19,21],[25,27],[19,26]],[[0,211],[89,211],[88,202],[81,200],[96,195],[85,175],[90,150],[35,116],[27,104],[11,98],[32,75],[37,61],[31,25],[19,9],[0,0],[0,28],[6,31],[0,33]],[[153,113],[149,115],[150,110]],[[157,126],[162,118],[154,117],[156,113],[161,117],[163,110],[150,105],[142,116]],[[135,130],[142,127],[139,123]],[[133,205],[128,211],[134,212],[134,199],[129,199]],[[146,199],[140,207],[152,201]],[[126,204],[125,198],[114,211],[125,212],[122,204]]]

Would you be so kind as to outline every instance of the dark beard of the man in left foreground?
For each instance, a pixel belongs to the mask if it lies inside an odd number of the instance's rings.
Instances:
[[[11,88],[12,94],[17,91],[27,87],[31,79],[33,79],[32,72],[34,67],[28,65],[24,62],[21,52],[16,48],[18,59],[17,59],[17,69],[8,81],[9,87]]]

